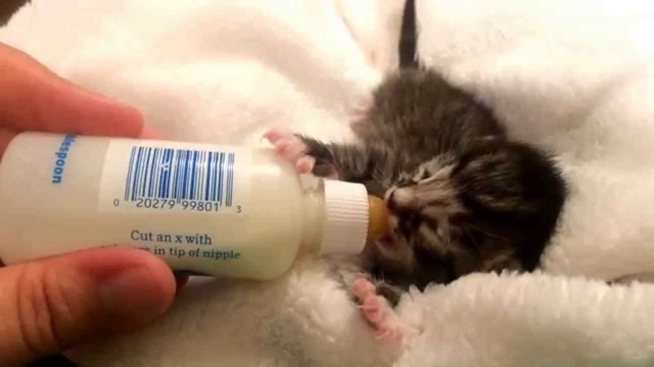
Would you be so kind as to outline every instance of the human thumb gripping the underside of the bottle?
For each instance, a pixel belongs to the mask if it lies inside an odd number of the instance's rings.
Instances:
[[[91,249],[0,268],[0,366],[129,330],[161,315],[175,279],[138,249]]]

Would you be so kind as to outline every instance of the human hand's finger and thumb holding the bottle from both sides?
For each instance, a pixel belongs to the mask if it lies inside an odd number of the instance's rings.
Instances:
[[[22,131],[151,135],[137,110],[73,86],[0,44],[0,155]],[[11,246],[1,238],[0,246]],[[174,295],[168,266],[138,249],[91,249],[0,268],[0,366],[143,325]]]

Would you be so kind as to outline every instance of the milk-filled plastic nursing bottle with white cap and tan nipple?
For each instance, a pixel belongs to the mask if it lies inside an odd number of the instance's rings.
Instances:
[[[363,185],[305,185],[266,148],[22,133],[0,162],[5,264],[132,246],[173,270],[271,279],[301,251],[359,253],[387,221]]]

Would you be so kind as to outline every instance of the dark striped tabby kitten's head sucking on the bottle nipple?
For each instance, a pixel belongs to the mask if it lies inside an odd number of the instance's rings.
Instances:
[[[377,242],[377,273],[449,283],[477,271],[533,270],[565,197],[549,157],[504,138],[436,157],[387,189],[392,234]]]

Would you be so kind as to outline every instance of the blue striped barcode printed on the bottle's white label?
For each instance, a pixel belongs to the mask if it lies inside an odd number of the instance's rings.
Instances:
[[[235,154],[135,146],[125,200],[211,201],[232,206]]]

